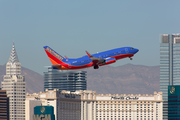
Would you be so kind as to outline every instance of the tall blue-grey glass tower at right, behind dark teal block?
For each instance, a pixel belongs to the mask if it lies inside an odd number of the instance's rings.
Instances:
[[[180,34],[162,34],[160,43],[160,91],[163,119],[168,119],[168,85],[180,85]]]

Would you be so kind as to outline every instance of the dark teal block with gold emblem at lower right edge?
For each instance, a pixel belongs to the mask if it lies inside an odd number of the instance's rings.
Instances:
[[[180,85],[168,86],[168,120],[180,120]]]

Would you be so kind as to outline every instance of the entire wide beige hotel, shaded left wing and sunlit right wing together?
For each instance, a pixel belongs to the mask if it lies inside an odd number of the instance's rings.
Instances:
[[[27,95],[33,96],[33,95]],[[46,90],[42,105],[54,106],[56,120],[162,120],[162,92],[153,95],[96,95],[95,91]]]

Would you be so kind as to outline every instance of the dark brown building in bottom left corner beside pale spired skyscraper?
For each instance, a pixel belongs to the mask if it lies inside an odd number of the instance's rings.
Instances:
[[[9,120],[9,98],[6,90],[0,90],[0,120]]]

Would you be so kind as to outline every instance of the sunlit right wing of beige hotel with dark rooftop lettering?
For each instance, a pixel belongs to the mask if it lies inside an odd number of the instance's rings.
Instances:
[[[162,120],[162,92],[154,95],[96,95],[80,91],[81,120]]]

